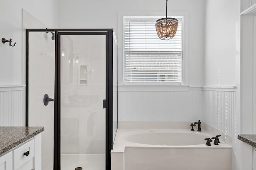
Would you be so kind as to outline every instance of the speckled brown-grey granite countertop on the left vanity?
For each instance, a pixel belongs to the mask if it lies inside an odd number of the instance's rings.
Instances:
[[[0,127],[0,155],[44,131],[44,127]]]

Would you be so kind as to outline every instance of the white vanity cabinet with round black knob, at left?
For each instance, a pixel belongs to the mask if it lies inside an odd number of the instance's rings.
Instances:
[[[0,170],[41,170],[41,134],[0,155]]]

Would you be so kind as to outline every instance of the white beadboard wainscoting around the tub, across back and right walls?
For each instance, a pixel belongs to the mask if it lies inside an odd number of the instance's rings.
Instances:
[[[234,135],[236,89],[118,91],[118,121],[201,121]]]

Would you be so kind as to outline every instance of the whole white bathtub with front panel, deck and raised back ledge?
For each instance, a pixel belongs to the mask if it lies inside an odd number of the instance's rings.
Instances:
[[[231,170],[232,146],[220,139],[218,146],[206,146],[204,138],[212,134],[204,128],[202,132],[190,130],[190,124],[144,123],[128,127],[119,123],[118,132],[111,151],[111,170]],[[146,128],[147,125],[153,128]],[[157,127],[178,128],[157,128]],[[186,125],[186,127],[184,127]],[[130,127],[132,127],[130,126]],[[138,127],[137,126],[137,127]],[[181,128],[184,127],[184,128]]]

